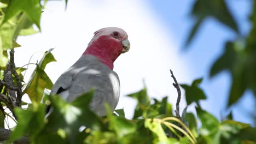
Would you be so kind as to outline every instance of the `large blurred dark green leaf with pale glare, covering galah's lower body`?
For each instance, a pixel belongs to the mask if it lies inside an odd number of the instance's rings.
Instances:
[[[78,139],[80,127],[100,130],[98,117],[89,109],[92,95],[93,91],[84,93],[70,104],[57,95],[50,95],[53,112],[48,116],[48,123],[35,142],[83,143]]]

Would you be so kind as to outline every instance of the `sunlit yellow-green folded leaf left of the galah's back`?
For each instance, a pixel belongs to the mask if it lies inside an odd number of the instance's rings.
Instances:
[[[53,49],[46,51],[43,58],[33,71],[30,81],[28,81],[24,93],[28,94],[32,103],[40,103],[42,100],[44,89],[51,89],[53,82],[51,82],[48,75],[44,72],[46,64],[55,62],[54,56],[50,53]]]

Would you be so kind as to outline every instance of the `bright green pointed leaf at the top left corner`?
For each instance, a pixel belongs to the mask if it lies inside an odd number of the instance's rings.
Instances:
[[[5,16],[2,24],[11,19],[11,17],[24,12],[26,13],[28,19],[30,19],[33,23],[36,23],[37,27],[40,29],[41,11],[42,7],[40,6],[40,1],[38,0],[12,0],[9,2],[8,8],[5,10]]]

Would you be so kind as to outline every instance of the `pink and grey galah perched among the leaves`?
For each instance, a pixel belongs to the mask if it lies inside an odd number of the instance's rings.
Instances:
[[[69,102],[93,88],[90,109],[98,116],[105,116],[104,104],[114,111],[120,95],[113,63],[121,53],[129,51],[130,42],[126,32],[117,27],[102,28],[94,34],[83,55],[57,79],[51,94]]]

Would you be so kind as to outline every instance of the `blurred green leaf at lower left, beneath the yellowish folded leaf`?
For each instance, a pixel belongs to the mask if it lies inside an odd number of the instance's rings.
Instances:
[[[44,105],[33,104],[32,109],[23,110],[15,108],[18,117],[18,124],[8,141],[18,140],[24,135],[30,135],[30,140],[34,139],[44,127]]]

